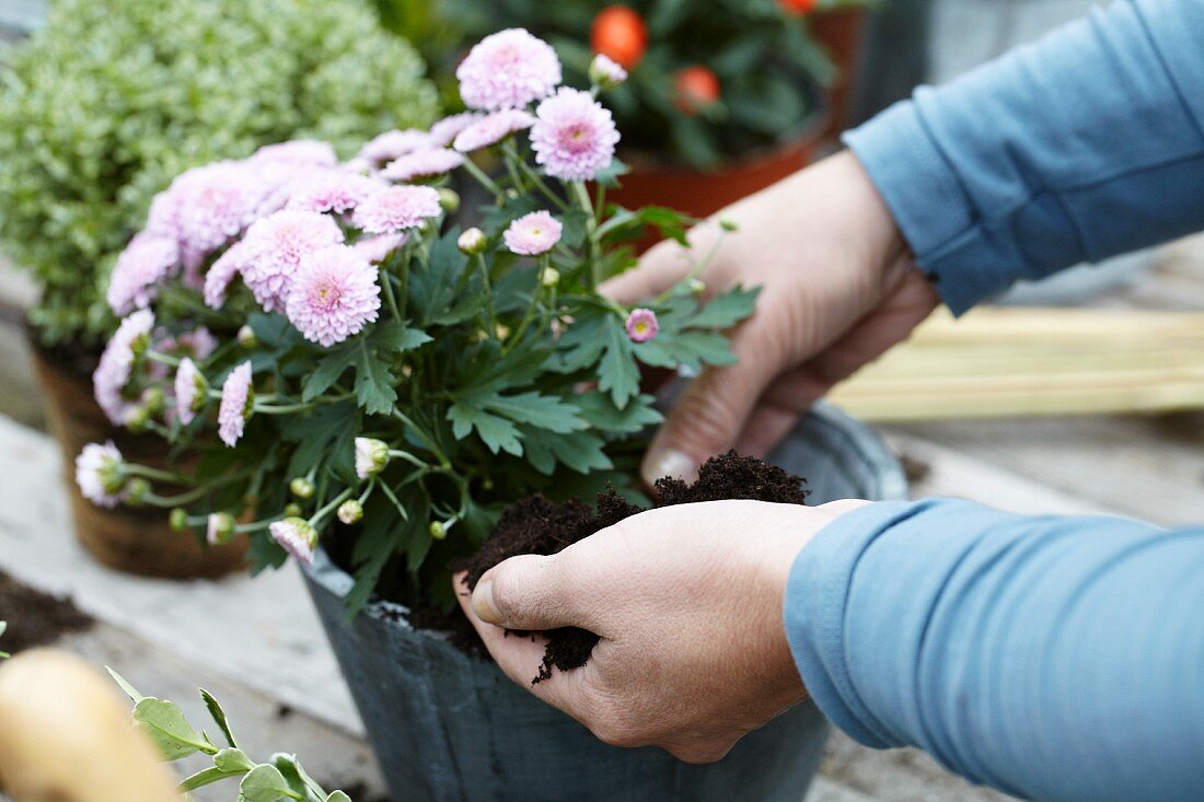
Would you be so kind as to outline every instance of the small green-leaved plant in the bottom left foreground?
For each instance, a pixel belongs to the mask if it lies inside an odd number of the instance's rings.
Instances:
[[[213,743],[203,730],[196,730],[184,712],[175,702],[143,696],[112,668],[108,673],[134,702],[134,723],[146,733],[164,760],[179,760],[201,753],[213,759],[213,766],[203,768],[179,784],[179,791],[188,794],[199,788],[238,780],[238,802],[352,802],[342,791],[326,792],[312,777],[306,774],[296,755],[277,753],[267,762],[252,760],[234,736],[234,729],[218,701],[200,689],[209,717],[222,733],[225,745]]]

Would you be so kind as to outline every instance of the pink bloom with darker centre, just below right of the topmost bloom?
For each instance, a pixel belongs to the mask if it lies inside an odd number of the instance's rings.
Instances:
[[[592,181],[614,160],[619,130],[610,112],[588,92],[561,88],[536,108],[535,160],[562,181]]]

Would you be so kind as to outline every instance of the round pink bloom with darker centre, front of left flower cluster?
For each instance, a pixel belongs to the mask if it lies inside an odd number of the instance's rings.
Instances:
[[[306,340],[325,348],[359,334],[380,308],[378,272],[348,246],[307,254],[289,289],[289,322]]]

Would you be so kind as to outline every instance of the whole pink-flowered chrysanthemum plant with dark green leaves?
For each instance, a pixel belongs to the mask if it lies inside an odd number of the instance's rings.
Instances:
[[[460,66],[473,111],[429,131],[346,164],[293,142],[177,178],[113,273],[125,317],[95,375],[105,411],[170,441],[175,468],[89,446],[84,494],[248,537],[256,570],[321,539],[354,608],[373,590],[449,602],[448,561],[520,497],[630,488],[661,418],[642,366],[731,362],[722,332],[756,291],[704,301],[702,264],[638,308],[600,291],[648,226],[684,242],[691,223],[607,204],[612,66],[568,89],[548,45],[502,31]],[[465,184],[490,200],[461,230]]]

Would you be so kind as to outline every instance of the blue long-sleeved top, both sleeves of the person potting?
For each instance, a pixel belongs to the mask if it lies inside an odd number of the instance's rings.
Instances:
[[[957,313],[1202,229],[1204,0],[1115,2],[845,141]],[[873,505],[799,553],[785,620],[862,743],[1035,800],[1204,800],[1204,526]]]

